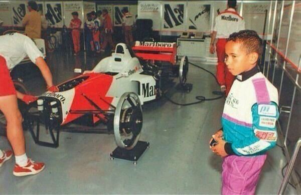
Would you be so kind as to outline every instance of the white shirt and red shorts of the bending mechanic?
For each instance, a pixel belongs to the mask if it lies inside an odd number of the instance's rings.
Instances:
[[[0,36],[0,42],[0,96],[16,94],[10,70],[27,55],[35,62],[43,54],[30,37],[17,32]]]

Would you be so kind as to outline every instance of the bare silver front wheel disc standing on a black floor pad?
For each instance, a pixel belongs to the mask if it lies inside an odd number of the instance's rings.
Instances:
[[[142,108],[134,92],[121,95],[114,114],[114,137],[117,146],[132,149],[139,140],[142,128]]]

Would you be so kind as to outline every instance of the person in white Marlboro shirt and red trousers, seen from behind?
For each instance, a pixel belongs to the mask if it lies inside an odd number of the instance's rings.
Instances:
[[[215,25],[211,35],[210,52],[217,52],[216,77],[221,86],[221,91],[228,95],[234,76],[229,72],[225,59],[225,45],[229,35],[245,29],[243,18],[236,12],[236,0],[228,0],[227,9],[220,12],[215,18]],[[214,45],[217,38],[216,48]]]

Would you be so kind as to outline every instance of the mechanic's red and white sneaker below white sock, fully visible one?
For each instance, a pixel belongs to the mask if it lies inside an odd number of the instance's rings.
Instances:
[[[41,172],[44,168],[45,168],[45,163],[35,162],[34,160],[29,158],[25,166],[19,166],[18,164],[15,164],[13,174],[15,176],[26,176],[31,174],[37,174]]]

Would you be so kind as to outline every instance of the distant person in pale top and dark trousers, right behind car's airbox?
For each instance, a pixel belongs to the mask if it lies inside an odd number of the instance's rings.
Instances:
[[[127,7],[123,7],[121,10],[123,17],[122,17],[122,29],[124,32],[124,40],[125,43],[129,46],[133,46],[133,24],[134,24],[134,18],[133,15],[128,12]]]

